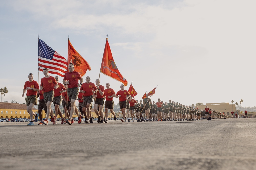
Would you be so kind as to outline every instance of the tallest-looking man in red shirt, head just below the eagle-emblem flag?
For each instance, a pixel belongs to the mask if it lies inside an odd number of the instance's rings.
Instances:
[[[80,83],[78,83],[78,80],[80,80]],[[69,63],[68,64],[68,72],[65,73],[63,84],[67,84],[67,93],[70,99],[70,119],[67,121],[67,124],[71,125],[74,112],[76,112],[78,116],[78,123],[81,123],[82,115],[79,114],[78,108],[76,107],[76,100],[79,92],[79,88],[81,87],[83,83],[83,78],[80,73],[74,71],[74,64]]]

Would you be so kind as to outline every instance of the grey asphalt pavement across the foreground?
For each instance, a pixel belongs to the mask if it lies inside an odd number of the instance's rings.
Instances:
[[[256,118],[0,123],[0,169],[256,169]]]

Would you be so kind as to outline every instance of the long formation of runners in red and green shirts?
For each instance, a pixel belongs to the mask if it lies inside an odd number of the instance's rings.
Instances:
[[[120,85],[120,90],[115,91],[110,88],[110,84],[106,83],[106,89],[100,85],[99,80],[95,84],[91,82],[90,77],[86,77],[86,82],[83,83],[83,78],[79,72],[74,71],[73,63],[68,65],[68,72],[65,73],[63,84],[59,83],[58,76],[50,76],[49,69],[43,69],[45,77],[41,79],[39,84],[33,80],[33,74],[29,73],[28,79],[24,85],[22,97],[26,93],[27,111],[30,114],[31,121],[28,125],[34,125],[32,117],[35,116],[35,122],[38,118],[42,120],[39,125],[48,125],[48,119],[51,117],[52,124],[57,124],[57,116],[61,117],[61,124],[67,123],[71,125],[74,123],[74,113],[78,116],[78,123],[93,123],[91,114],[92,104],[95,114],[98,116],[98,123],[108,123],[108,112],[113,114],[114,120],[117,120],[114,112],[113,97],[119,98],[119,105],[123,115],[122,122],[148,122],[148,121],[197,121],[201,119],[224,119],[231,118],[229,115],[224,115],[215,110],[209,109],[207,106],[204,110],[185,106],[178,102],[169,100],[163,102],[158,98],[158,101],[151,101],[146,95],[141,101],[135,100],[130,93],[124,89],[124,85]],[[80,83],[78,82],[80,81]],[[80,87],[80,89],[79,89]],[[37,94],[37,92],[39,92]],[[39,97],[39,104],[37,103]],[[93,103],[94,99],[94,103]],[[76,107],[76,100],[79,105]],[[104,102],[105,101],[105,102]],[[54,104],[55,115],[51,104]],[[38,113],[32,111],[34,105],[38,104]],[[60,104],[63,105],[65,115],[62,116],[60,111]],[[103,111],[105,108],[105,112]],[[42,109],[46,112],[46,119],[42,119]],[[79,114],[79,111],[81,114]],[[233,112],[233,111],[232,111]],[[231,112],[231,113],[232,113]],[[131,118],[130,118],[131,117]],[[129,118],[129,119],[128,119]]]

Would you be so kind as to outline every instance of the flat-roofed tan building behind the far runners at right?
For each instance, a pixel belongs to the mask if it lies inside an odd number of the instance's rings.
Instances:
[[[217,112],[231,115],[231,111],[236,112],[236,104],[229,103],[206,103],[206,105],[198,106],[198,109],[204,110],[208,106],[209,109],[216,110]]]

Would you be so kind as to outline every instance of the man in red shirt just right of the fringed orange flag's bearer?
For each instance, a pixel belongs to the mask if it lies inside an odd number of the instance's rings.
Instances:
[[[106,99],[105,101],[105,119],[108,120],[108,112],[110,109],[110,112],[114,115],[114,120],[116,120],[116,115],[114,112],[114,101],[113,97],[115,97],[115,91],[114,89],[110,88],[110,84],[106,83],[106,89],[104,90],[104,98]]]

